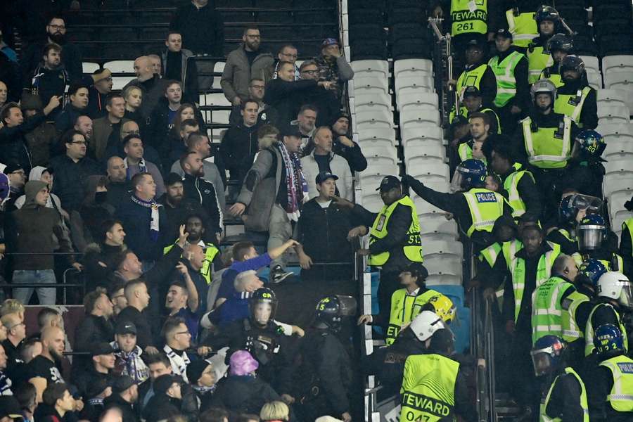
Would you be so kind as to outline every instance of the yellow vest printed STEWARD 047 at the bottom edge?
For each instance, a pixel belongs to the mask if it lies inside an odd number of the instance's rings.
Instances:
[[[412,354],[404,362],[400,421],[454,421],[459,363],[440,354]]]

